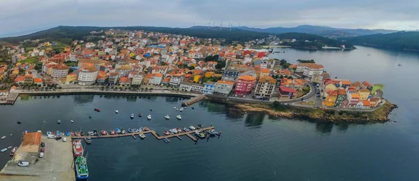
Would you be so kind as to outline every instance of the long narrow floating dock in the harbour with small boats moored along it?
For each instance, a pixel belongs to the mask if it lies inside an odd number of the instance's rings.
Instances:
[[[196,129],[198,131],[206,131],[209,129],[214,129],[214,126],[210,126],[210,127],[205,127],[202,129]],[[180,136],[188,136],[189,138],[191,138],[193,141],[197,141],[198,138],[196,138],[195,136],[192,136],[191,133],[195,133],[196,130],[193,131],[183,131],[182,133],[175,133],[175,134],[170,134],[170,135],[165,135],[165,136],[159,136],[158,133],[156,133],[156,131],[154,130],[150,130],[150,131],[141,131],[141,132],[137,132],[137,133],[125,133],[125,134],[115,134],[115,135],[102,135],[102,136],[71,136],[72,139],[84,139],[87,137],[90,138],[119,138],[119,137],[124,137],[124,136],[133,136],[134,138],[136,138],[135,136],[140,135],[141,133],[143,134],[147,134],[147,133],[151,133],[154,137],[156,137],[158,140],[162,140],[164,138],[179,138],[179,140],[182,140],[182,138],[180,138]]]

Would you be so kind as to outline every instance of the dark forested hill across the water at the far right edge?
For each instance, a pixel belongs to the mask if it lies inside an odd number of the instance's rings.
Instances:
[[[373,34],[346,38],[346,41],[383,48],[419,50],[418,31],[399,31],[392,34]]]

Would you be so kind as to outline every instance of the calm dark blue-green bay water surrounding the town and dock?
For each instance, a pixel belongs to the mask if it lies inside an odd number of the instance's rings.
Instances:
[[[87,146],[89,180],[418,180],[418,54],[362,47],[351,52],[283,50],[286,52],[275,56],[291,62],[315,59],[338,78],[385,84],[385,97],[399,106],[391,115],[397,122],[275,120],[263,114],[242,115],[209,102],[197,103],[195,110],[186,109],[178,121],[173,119],[179,114],[173,107],[180,106],[179,98],[36,96],[21,97],[14,106],[1,106],[0,133],[13,136],[0,140],[0,147],[18,145],[19,135],[26,129],[88,131],[149,126],[161,133],[202,123],[214,124],[223,132],[221,137],[200,140],[197,145],[187,137],[172,138],[169,144],[152,136],[145,140],[94,140]],[[397,66],[399,63],[403,66]],[[94,108],[100,108],[101,113],[95,113]],[[129,119],[131,113],[139,112],[152,114],[153,120]],[[166,114],[172,120],[165,121]],[[17,120],[22,124],[16,124]],[[0,154],[1,165],[8,159],[8,154]]]

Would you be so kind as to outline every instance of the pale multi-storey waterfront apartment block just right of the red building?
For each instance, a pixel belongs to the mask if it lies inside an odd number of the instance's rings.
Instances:
[[[277,80],[272,78],[270,75],[261,77],[256,84],[255,97],[270,99],[277,85]]]

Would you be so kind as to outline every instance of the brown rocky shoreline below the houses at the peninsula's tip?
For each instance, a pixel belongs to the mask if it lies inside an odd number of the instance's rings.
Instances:
[[[396,105],[386,101],[381,108],[372,112],[346,111],[346,110],[323,110],[320,108],[303,108],[297,106],[284,106],[279,104],[260,103],[233,103],[227,105],[244,112],[264,112],[273,117],[285,117],[288,119],[304,119],[316,122],[388,122],[388,115]]]

